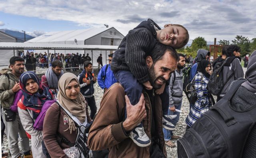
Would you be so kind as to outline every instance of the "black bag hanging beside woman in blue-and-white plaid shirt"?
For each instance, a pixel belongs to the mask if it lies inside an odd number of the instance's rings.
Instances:
[[[199,73],[199,74],[202,76],[201,73]],[[195,88],[195,78],[196,78],[196,76],[194,76],[193,80],[186,86],[186,91],[185,91],[185,94],[188,98],[188,102],[190,104],[194,104],[197,99],[196,88]],[[202,76],[202,78],[203,78],[203,76]],[[202,80],[201,80],[201,82],[202,82]]]

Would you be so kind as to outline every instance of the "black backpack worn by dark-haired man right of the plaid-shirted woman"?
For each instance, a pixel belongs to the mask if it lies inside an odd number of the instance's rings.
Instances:
[[[236,58],[236,56],[231,56],[231,57],[227,58],[219,68],[217,68],[216,70],[214,70],[214,72],[212,72],[212,74],[209,78],[209,82],[208,82],[208,91],[209,91],[210,94],[218,96],[221,93],[223,87],[228,82],[228,80],[230,80],[230,78],[234,75],[234,73],[231,74],[227,78],[226,82],[224,83],[223,73],[222,73],[223,67],[224,66],[230,66],[230,63],[235,58]]]

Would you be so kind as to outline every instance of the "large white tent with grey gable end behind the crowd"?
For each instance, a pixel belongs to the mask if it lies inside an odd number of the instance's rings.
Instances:
[[[112,28],[90,28],[84,30],[71,30],[60,32],[48,32],[27,42],[30,43],[49,43],[49,44],[77,44],[77,45],[106,45],[106,46],[118,46],[124,35],[122,35],[114,27]],[[26,50],[25,50],[26,51]],[[24,51],[24,52],[25,52]],[[47,50],[35,50],[34,52],[47,52]],[[89,54],[92,58],[93,66],[97,66],[97,58],[102,54],[102,62],[106,64],[108,54],[113,51],[98,50],[50,50],[50,53],[76,53]]]

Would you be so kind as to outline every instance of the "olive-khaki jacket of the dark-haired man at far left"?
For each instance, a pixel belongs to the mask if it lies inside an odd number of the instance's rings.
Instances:
[[[0,76],[0,101],[1,106],[5,109],[10,109],[10,106],[13,104],[15,93],[12,91],[12,88],[19,82],[19,79],[12,74],[10,69],[2,70]],[[9,75],[9,79],[6,76]]]

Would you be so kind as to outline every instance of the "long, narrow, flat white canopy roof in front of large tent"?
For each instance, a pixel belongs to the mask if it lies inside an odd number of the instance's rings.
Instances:
[[[118,46],[105,45],[74,45],[74,44],[49,44],[49,43],[16,43],[0,42],[0,50],[5,49],[43,49],[43,50],[117,50]]]

